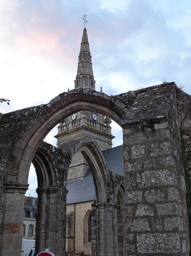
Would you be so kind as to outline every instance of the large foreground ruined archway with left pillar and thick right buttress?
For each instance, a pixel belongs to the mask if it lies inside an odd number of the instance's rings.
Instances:
[[[4,114],[1,118],[1,246],[19,255],[21,209],[32,159],[45,135],[64,117],[87,110],[112,118],[123,128],[126,232],[131,255],[188,253],[184,170],[178,127],[178,89],[167,83],[109,97],[85,89],[60,94],[49,104]],[[191,97],[185,97],[190,109]],[[189,119],[190,111],[187,111]],[[189,129],[189,128],[188,128]],[[176,193],[175,193],[176,192]],[[175,193],[175,197],[173,197]],[[162,195],[163,201],[160,201]],[[155,198],[152,201],[150,198]],[[10,203],[15,212],[10,210]],[[19,205],[20,204],[20,205]],[[99,217],[104,213],[99,205]],[[173,211],[172,211],[173,209]],[[181,210],[183,209],[183,210]],[[107,215],[105,215],[107,217]],[[99,221],[103,221],[99,218]],[[169,223],[172,223],[173,229]],[[180,224],[181,223],[181,224]],[[186,234],[186,236],[183,236]],[[135,239],[136,236],[136,239]],[[10,241],[9,248],[4,243]],[[150,241],[154,241],[150,244]],[[101,241],[100,238],[98,241]],[[144,243],[142,243],[144,241]],[[15,245],[16,244],[16,245]],[[169,244],[171,248],[169,251]],[[6,251],[6,254],[5,254]],[[110,255],[117,255],[108,251]]]

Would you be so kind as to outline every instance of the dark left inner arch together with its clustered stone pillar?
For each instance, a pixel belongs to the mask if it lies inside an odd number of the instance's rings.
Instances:
[[[66,159],[68,159],[66,161]],[[32,160],[37,182],[36,253],[50,248],[64,251],[66,215],[66,177],[70,156],[56,147],[42,142]],[[59,226],[55,225],[59,221]],[[56,234],[56,235],[55,235]],[[62,242],[61,242],[62,241]]]

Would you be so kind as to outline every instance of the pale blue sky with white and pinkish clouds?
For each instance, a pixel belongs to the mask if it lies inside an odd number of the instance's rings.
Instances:
[[[74,89],[84,15],[97,91],[174,81],[191,94],[190,0],[0,0],[0,97],[10,100],[0,112]],[[112,127],[113,146],[122,144],[120,127]],[[56,145],[56,133],[45,141]]]

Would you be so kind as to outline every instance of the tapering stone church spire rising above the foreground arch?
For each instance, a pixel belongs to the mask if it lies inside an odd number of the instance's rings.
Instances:
[[[92,56],[89,50],[87,30],[86,28],[84,28],[80,52],[78,56],[78,70],[77,70],[76,80],[74,81],[75,89],[87,88],[87,89],[95,90],[95,81],[94,81],[94,74],[93,74],[91,60],[92,60]]]

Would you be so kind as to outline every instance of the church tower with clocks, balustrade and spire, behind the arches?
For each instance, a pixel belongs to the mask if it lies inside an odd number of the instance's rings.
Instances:
[[[78,56],[78,70],[74,80],[74,88],[86,88],[95,90],[94,74],[92,69],[92,56],[89,50],[87,30],[84,28]],[[93,137],[100,147],[100,150],[110,149],[112,139],[111,119],[102,114],[91,111],[79,111],[67,117],[58,126],[57,146],[62,148],[63,143],[81,137]],[[68,170],[68,180],[82,178],[86,175],[88,165],[83,155],[79,152],[74,155]]]

